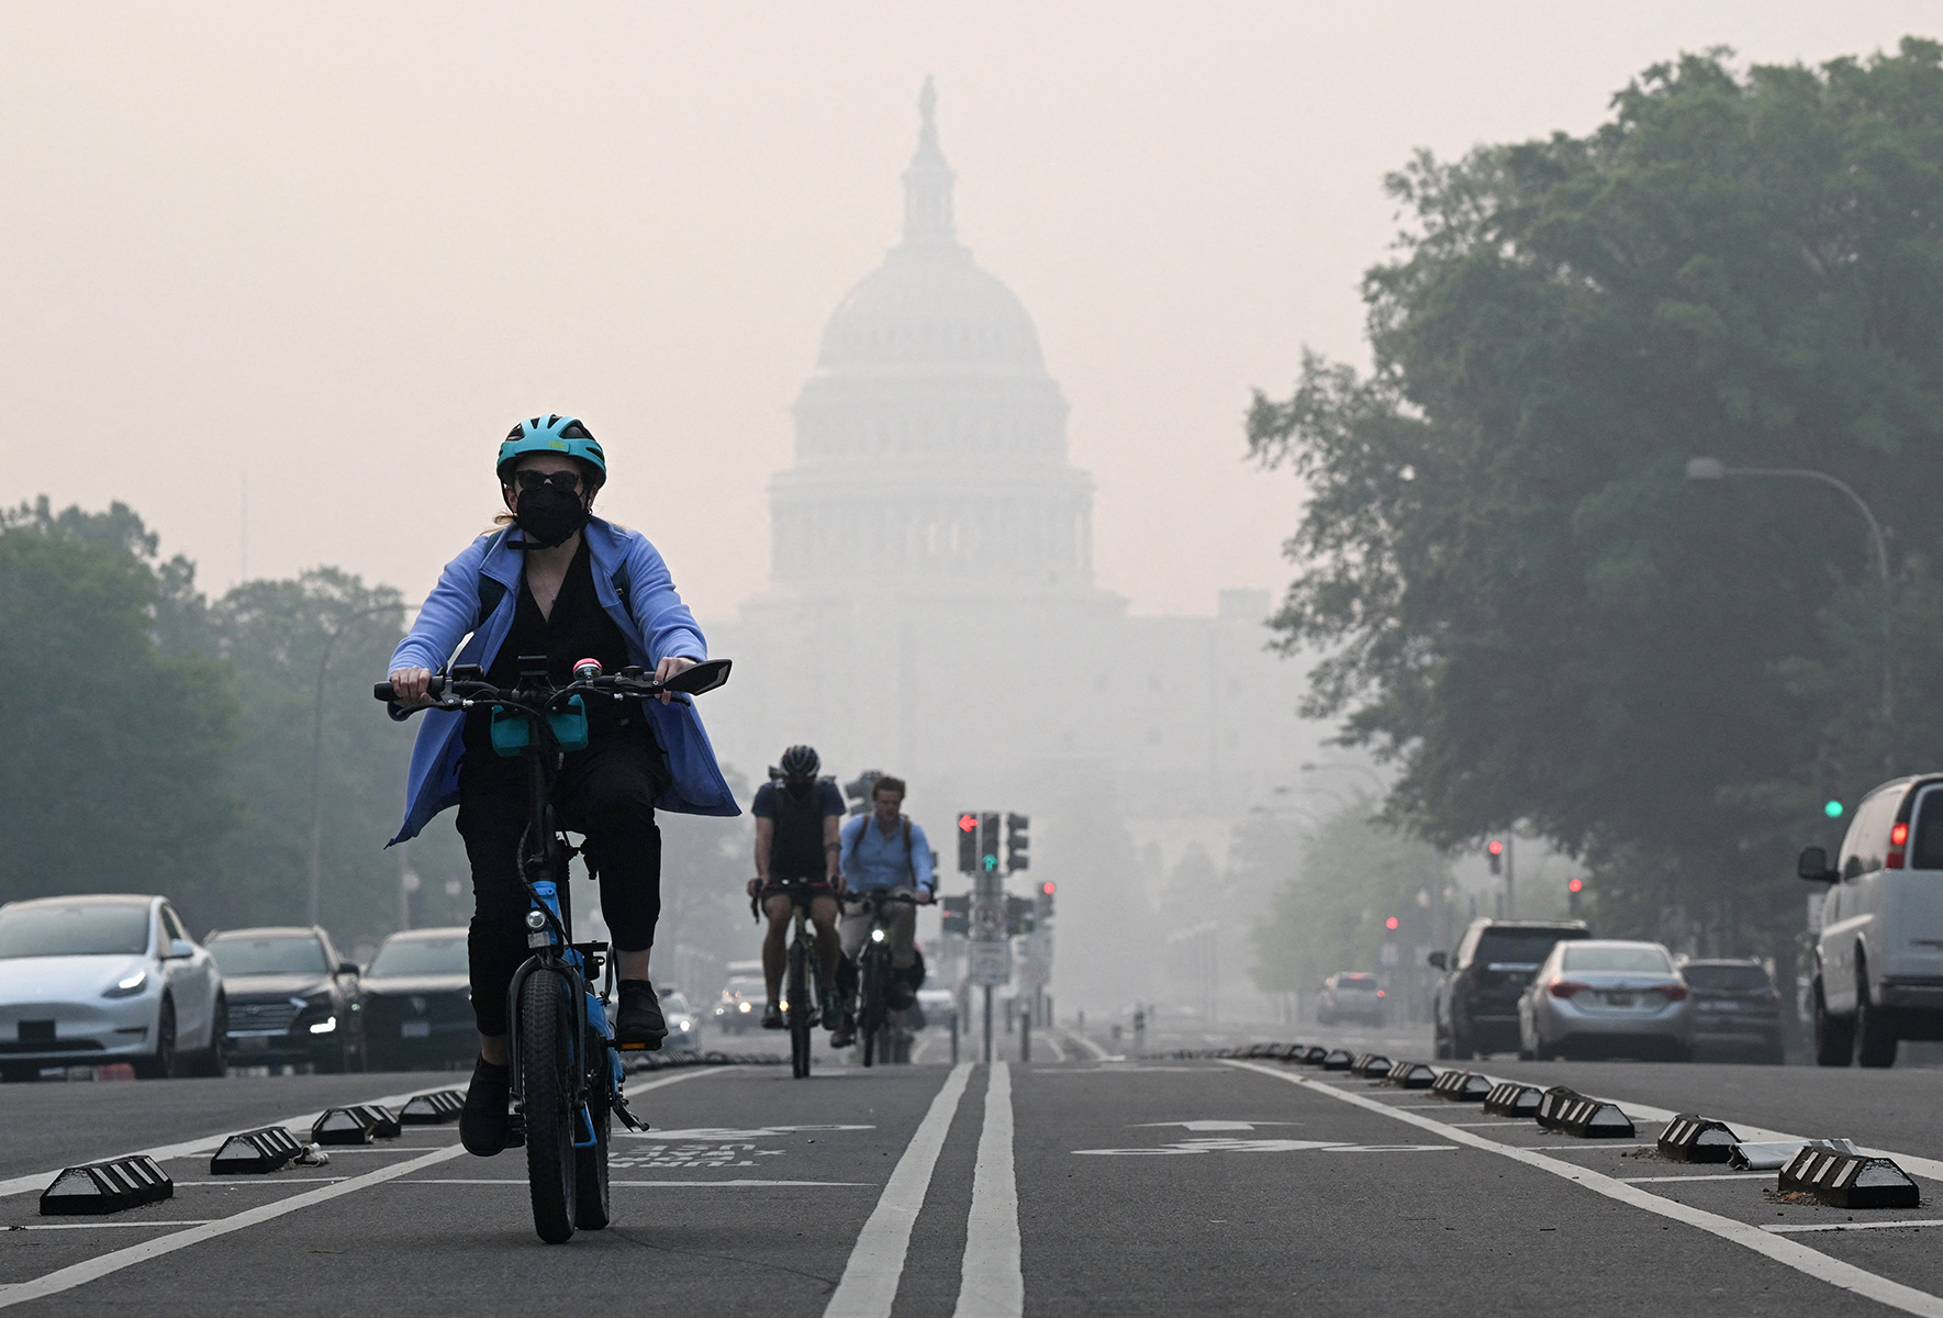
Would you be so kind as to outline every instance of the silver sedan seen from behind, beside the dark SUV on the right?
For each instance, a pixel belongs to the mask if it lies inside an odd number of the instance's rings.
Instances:
[[[1659,943],[1556,943],[1517,999],[1517,1056],[1692,1061],[1694,1013]]]

